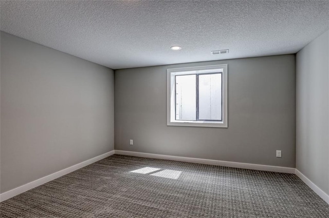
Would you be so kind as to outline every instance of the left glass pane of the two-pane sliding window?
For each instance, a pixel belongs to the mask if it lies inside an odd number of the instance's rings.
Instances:
[[[196,120],[196,75],[176,76],[176,120]]]

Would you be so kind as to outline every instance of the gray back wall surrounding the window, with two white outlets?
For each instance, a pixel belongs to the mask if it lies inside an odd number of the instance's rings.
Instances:
[[[167,126],[167,68],[215,64],[229,127]],[[295,167],[295,82],[294,54],[115,70],[115,149]]]

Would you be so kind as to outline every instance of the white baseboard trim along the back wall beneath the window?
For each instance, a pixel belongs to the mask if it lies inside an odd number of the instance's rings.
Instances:
[[[194,157],[171,156],[171,155],[142,153],[142,152],[134,152],[134,151],[115,150],[114,152],[115,152],[115,154],[157,158],[157,159],[189,162],[189,163],[196,163],[196,164],[209,164],[209,165],[216,165],[216,166],[235,167],[235,168],[252,169],[252,170],[264,170],[264,171],[271,171],[271,172],[295,173],[295,168],[289,168],[289,167],[277,167],[277,166],[259,165],[259,164],[246,164],[246,163],[239,163],[239,162],[217,161],[217,160],[208,160],[208,159],[194,158]]]

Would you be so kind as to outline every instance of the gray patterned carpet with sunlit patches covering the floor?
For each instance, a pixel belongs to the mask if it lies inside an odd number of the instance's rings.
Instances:
[[[1,217],[327,218],[329,205],[294,174],[112,155],[1,203],[0,212]]]

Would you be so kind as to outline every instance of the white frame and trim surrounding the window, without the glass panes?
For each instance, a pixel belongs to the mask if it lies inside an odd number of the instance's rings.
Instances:
[[[212,73],[220,69],[223,71],[222,85],[222,121],[182,121],[175,120],[175,76],[186,74]],[[227,64],[200,67],[184,67],[167,69],[167,126],[191,126],[191,127],[217,127],[228,128],[227,110]]]

